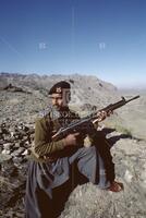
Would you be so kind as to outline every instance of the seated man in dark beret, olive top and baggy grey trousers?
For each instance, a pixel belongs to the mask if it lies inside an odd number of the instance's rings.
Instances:
[[[69,108],[70,88],[65,81],[54,84],[49,90],[52,106],[36,121],[26,184],[27,218],[58,217],[75,181],[80,182],[82,177],[99,189],[119,192],[123,187],[114,181],[109,146],[95,129],[95,124],[107,117],[105,111],[86,134],[77,132],[53,140],[60,128],[80,120],[78,114]],[[84,146],[86,136],[92,146]]]

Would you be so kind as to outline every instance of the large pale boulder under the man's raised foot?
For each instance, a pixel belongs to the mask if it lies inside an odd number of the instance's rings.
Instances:
[[[101,191],[90,183],[77,186],[71,194],[61,218],[146,217],[145,142],[119,137],[111,150],[117,180],[123,182],[124,191]]]

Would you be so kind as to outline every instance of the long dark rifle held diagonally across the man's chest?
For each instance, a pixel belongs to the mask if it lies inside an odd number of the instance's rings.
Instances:
[[[99,118],[98,112],[106,111],[108,113],[109,111],[113,111],[113,110],[115,110],[115,109],[124,106],[125,104],[127,104],[127,102],[130,102],[132,100],[135,100],[137,98],[139,98],[139,96],[135,96],[133,98],[130,98],[129,100],[126,100],[124,97],[122,97],[122,100],[119,100],[119,101],[117,101],[114,104],[110,104],[107,107],[105,107],[105,108],[102,108],[102,109],[100,109],[100,110],[98,110],[96,112],[93,112],[89,116],[86,116],[86,117],[80,119],[78,121],[74,121],[74,122],[70,123],[69,125],[66,125],[64,128],[61,128],[52,136],[52,141],[62,140],[68,134],[75,133],[75,132],[80,132],[82,134],[84,134],[84,133],[87,134],[89,128],[93,126],[92,121],[94,121],[95,119]]]

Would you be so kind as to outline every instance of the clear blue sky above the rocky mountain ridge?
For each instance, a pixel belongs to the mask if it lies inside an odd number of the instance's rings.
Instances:
[[[146,0],[0,0],[0,72],[146,87]]]

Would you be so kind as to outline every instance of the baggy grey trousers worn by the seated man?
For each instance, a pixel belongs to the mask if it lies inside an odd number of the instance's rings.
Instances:
[[[39,164],[31,160],[25,195],[26,218],[54,218],[59,216],[59,213],[56,213],[53,191],[63,190],[63,184],[70,179],[70,167],[75,161],[78,171],[89,182],[99,185],[101,189],[109,185],[102,159],[95,146],[78,148],[70,157],[59,158],[51,164]],[[65,195],[65,190],[61,194]],[[59,196],[58,202],[60,199],[61,196]]]

